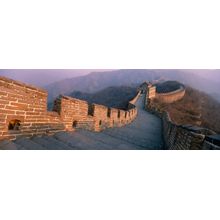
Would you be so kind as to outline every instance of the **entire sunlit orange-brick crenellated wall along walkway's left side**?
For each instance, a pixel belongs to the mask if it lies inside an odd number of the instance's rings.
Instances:
[[[83,128],[102,131],[121,127],[137,115],[135,102],[140,92],[120,110],[79,99],[60,96],[53,111],[47,111],[47,92],[15,80],[0,77],[0,139],[16,139]]]

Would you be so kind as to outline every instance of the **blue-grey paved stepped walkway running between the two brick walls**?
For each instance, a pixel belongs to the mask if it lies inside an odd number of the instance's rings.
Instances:
[[[129,125],[121,128],[110,128],[95,133],[85,130],[76,132],[60,132],[53,136],[21,138],[15,142],[2,142],[5,148],[11,149],[100,149],[100,150],[157,150],[162,149],[161,120],[144,110],[144,96],[136,106],[137,118]],[[0,143],[1,144],[1,143]]]

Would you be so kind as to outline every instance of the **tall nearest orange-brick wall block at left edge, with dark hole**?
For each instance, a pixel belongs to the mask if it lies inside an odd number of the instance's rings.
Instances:
[[[0,77],[0,139],[63,130],[57,113],[47,112],[47,92]]]

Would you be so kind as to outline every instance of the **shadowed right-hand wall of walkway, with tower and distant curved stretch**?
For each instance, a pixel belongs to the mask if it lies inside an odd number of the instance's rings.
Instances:
[[[165,148],[169,150],[219,150],[220,146],[213,143],[212,135],[215,132],[202,127],[191,126],[191,125],[177,125],[175,124],[168,112],[160,112],[158,109],[152,108],[150,105],[154,98],[159,99],[165,103],[172,103],[183,98],[185,95],[185,89],[181,86],[180,89],[166,93],[157,94],[154,86],[150,85],[148,88],[148,93],[145,100],[146,111],[155,114],[162,120],[163,127],[163,140]]]

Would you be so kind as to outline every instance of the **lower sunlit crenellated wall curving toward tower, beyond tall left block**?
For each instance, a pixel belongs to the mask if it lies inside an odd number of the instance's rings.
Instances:
[[[104,105],[88,104],[76,98],[60,96],[55,100],[54,111],[58,112],[67,130],[83,128],[102,131],[106,128],[121,127],[132,122],[137,116],[137,101],[140,92],[129,102],[128,110],[108,108]]]

